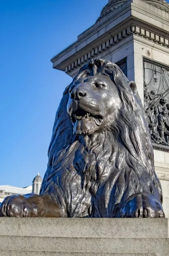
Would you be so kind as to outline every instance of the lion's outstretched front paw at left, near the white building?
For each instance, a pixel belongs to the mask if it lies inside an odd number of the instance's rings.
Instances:
[[[37,209],[22,195],[11,195],[0,204],[0,217],[36,217]]]

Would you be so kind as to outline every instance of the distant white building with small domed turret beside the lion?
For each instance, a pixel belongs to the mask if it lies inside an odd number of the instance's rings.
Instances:
[[[0,203],[6,198],[8,195],[25,195],[29,193],[39,194],[40,187],[42,183],[42,177],[40,177],[39,172],[34,180],[32,181],[32,186],[27,186],[24,188],[10,186],[10,185],[2,185],[0,186]]]

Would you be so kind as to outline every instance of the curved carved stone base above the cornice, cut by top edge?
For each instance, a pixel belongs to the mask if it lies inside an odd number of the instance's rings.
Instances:
[[[122,5],[127,0],[109,0],[106,6],[101,11],[100,17],[96,20],[99,21],[101,18],[106,16],[108,13],[112,12],[114,9],[118,8],[118,6]],[[155,6],[158,9],[163,10],[164,12],[169,12],[169,3],[165,0],[142,0],[145,3],[148,3],[152,6]]]

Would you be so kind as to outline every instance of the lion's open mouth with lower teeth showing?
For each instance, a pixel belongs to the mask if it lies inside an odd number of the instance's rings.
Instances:
[[[101,125],[103,121],[103,116],[101,115],[93,115],[92,113],[86,112],[82,109],[77,109],[71,118],[73,123],[76,123],[76,121],[82,120],[82,119],[93,119],[96,123],[96,125]]]

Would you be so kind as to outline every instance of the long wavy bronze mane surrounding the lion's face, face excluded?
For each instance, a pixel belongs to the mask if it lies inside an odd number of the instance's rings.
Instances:
[[[96,74],[109,76],[113,81],[121,99],[121,108],[117,118],[107,124],[103,131],[96,132],[89,145],[85,145],[83,137],[73,134],[73,125],[67,113],[69,87],[81,77]],[[60,181],[55,177],[63,167],[71,172],[69,168],[73,166],[76,173],[83,176],[82,189],[91,184],[92,203],[97,204],[93,217],[119,217],[115,209],[123,205],[130,195],[140,192],[158,194],[158,200],[162,202],[161,184],[155,174],[153,149],[144,108],[124,73],[110,61],[90,60],[79,70],[72,83],[65,89],[56,113],[48,149],[48,168],[40,193],[50,193],[64,208],[67,203],[59,196],[64,191],[62,188],[58,189]],[[73,158],[69,158],[72,152]],[[76,158],[81,160],[80,166]],[[97,181],[101,179],[104,182],[99,186]],[[70,187],[70,197],[71,189]],[[103,201],[99,201],[97,194],[101,195]],[[71,212],[74,209],[73,216],[78,216],[75,208],[76,206],[71,206]],[[111,216],[108,212],[112,212]],[[66,215],[68,213],[63,209],[63,216]]]

